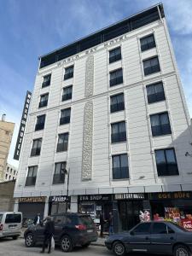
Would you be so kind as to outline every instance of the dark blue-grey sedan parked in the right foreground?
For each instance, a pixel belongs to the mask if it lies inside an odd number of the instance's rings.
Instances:
[[[105,245],[118,256],[131,252],[190,256],[192,232],[171,222],[145,222],[128,232],[108,236]]]

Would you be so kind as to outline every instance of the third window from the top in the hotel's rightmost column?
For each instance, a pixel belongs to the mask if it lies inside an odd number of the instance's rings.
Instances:
[[[162,82],[150,84],[146,86],[146,88],[148,94],[148,104],[164,101],[166,99]]]

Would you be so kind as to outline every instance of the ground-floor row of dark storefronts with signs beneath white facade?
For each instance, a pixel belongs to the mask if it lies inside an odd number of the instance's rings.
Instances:
[[[170,220],[192,230],[192,191],[161,193],[122,193],[103,195],[55,195],[21,197],[16,210],[23,212],[25,222],[32,222],[37,213],[41,218],[64,212],[90,214],[100,228],[100,217],[108,231],[109,212],[113,214],[113,230],[130,230],[148,212],[151,220]]]

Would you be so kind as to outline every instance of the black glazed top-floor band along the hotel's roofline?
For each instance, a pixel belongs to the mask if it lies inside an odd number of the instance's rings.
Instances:
[[[131,32],[132,30],[145,26],[155,20],[160,20],[160,16],[161,18],[165,17],[162,3],[156,4],[149,9],[145,9],[142,12],[137,13],[137,15],[132,15],[129,18],[120,20],[119,22],[94,32],[87,37],[80,38],[71,44],[55,49],[47,55],[40,56],[39,68],[47,67],[57,61],[76,55],[85,49],[90,49],[98,44],[117,38],[126,32]]]

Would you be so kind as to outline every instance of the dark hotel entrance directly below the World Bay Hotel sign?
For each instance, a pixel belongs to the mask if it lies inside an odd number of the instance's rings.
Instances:
[[[143,201],[119,201],[120,229],[130,230],[138,224],[140,211],[143,211]]]

